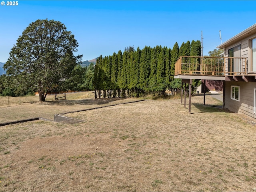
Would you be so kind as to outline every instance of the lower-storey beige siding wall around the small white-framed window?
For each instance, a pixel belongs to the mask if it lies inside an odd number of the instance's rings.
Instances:
[[[232,112],[256,118],[256,114],[254,114],[254,88],[256,88],[256,82],[226,81],[225,84],[225,108]],[[240,101],[230,98],[231,86],[240,86]]]

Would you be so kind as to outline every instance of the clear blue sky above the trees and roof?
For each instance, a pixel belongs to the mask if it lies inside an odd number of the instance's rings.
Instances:
[[[4,1],[7,4],[6,0]],[[0,6],[0,62],[6,62],[23,30],[37,19],[58,20],[74,34],[82,60],[125,47],[167,46],[201,40],[208,55],[256,23],[256,1],[40,1]]]

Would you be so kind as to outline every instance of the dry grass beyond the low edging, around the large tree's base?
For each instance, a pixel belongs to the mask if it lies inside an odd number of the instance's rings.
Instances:
[[[60,94],[60,96],[63,96]],[[24,97],[31,100],[31,97]],[[54,100],[54,95],[48,95],[45,102],[28,102],[20,105],[0,108],[0,123],[12,122],[17,120],[24,120],[28,118],[42,117],[49,120],[54,119],[54,114],[72,112],[96,106],[108,106],[112,104],[127,102],[126,100],[119,99],[92,99],[94,93],[92,92],[78,92],[76,94],[66,94],[66,100]],[[139,100],[138,98],[129,99],[129,101]]]

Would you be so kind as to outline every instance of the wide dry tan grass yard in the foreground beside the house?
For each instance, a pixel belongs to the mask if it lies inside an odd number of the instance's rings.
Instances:
[[[0,191],[256,191],[252,120],[192,103],[192,114],[146,100],[68,114],[79,124],[1,127]]]

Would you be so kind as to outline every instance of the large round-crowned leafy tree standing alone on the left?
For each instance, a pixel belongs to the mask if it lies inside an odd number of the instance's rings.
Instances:
[[[4,69],[12,86],[38,91],[44,101],[50,91],[70,77],[82,56],[74,56],[78,42],[66,26],[54,20],[36,20],[19,36]],[[19,84],[14,84],[19,82]]]

